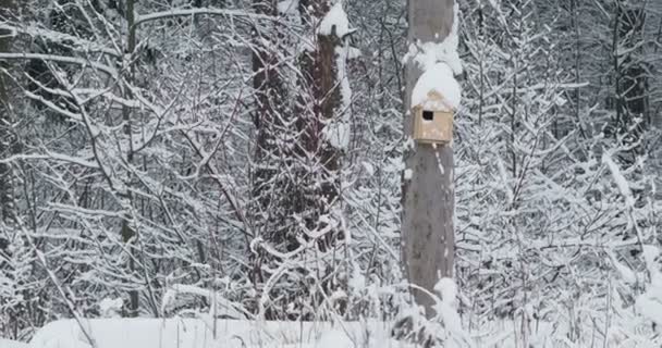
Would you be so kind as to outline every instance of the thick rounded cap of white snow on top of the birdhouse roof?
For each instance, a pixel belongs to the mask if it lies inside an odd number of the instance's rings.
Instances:
[[[428,94],[437,92],[443,100],[428,100]],[[437,63],[426,70],[412,91],[412,108],[420,105],[428,110],[452,111],[459,107],[462,88],[446,63]],[[452,109],[452,110],[448,110]]]

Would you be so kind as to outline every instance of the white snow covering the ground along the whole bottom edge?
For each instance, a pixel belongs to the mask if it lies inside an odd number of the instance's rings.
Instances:
[[[545,321],[495,320],[473,327],[470,341],[444,348],[659,347],[611,330],[608,343],[590,335],[572,343],[568,327]],[[0,348],[420,348],[391,337],[392,323],[271,322],[200,319],[61,320],[38,330],[29,344],[0,338]],[[90,341],[94,343],[90,344]]]

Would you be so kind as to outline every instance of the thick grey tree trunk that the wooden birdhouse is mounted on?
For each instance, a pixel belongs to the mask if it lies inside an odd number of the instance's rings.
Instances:
[[[453,25],[453,0],[409,0],[408,44],[442,42]],[[406,65],[405,105],[409,108],[412,91],[421,69],[414,60]],[[412,113],[405,116],[405,134],[412,134]],[[432,147],[416,144],[405,154],[403,182],[403,262],[408,281],[433,291],[442,277],[453,276],[454,259],[454,188],[452,144]],[[410,175],[409,175],[410,174]],[[422,291],[413,290],[419,306],[427,309],[433,300]]]

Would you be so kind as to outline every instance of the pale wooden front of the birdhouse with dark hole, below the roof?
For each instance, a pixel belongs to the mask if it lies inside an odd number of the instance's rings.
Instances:
[[[415,108],[413,128],[413,138],[417,142],[451,142],[453,140],[453,112]]]

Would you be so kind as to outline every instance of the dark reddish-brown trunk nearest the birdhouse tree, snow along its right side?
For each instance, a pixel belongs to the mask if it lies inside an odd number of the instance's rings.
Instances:
[[[345,33],[342,33],[339,26],[333,25],[331,25],[329,32],[320,29],[321,22],[332,7],[340,7],[335,10],[342,9],[340,2],[332,4],[328,0],[301,0],[299,5],[299,9],[304,9],[302,16],[316,33],[314,51],[307,51],[301,58],[304,76],[302,86],[311,94],[308,97],[312,97],[312,104],[302,102],[302,104],[307,104],[308,108],[299,111],[298,128],[303,134],[299,140],[299,148],[303,149],[301,154],[314,154],[321,165],[321,171],[318,171],[318,175],[315,176],[321,185],[316,187],[312,192],[305,194],[314,197],[309,201],[312,207],[309,208],[315,210],[315,213],[307,217],[306,225],[309,229],[318,231],[327,227],[324,223],[320,223],[319,217],[332,213],[331,209],[336,204],[340,191],[341,149],[335,148],[333,141],[328,138],[328,135],[333,130],[329,132],[324,128],[333,127],[333,124],[342,122],[341,119],[345,112],[343,110],[342,83],[339,80],[339,76],[343,74],[339,62],[346,59],[346,57],[339,57],[343,54],[343,48],[346,45],[344,37],[342,37]],[[338,13],[341,13],[341,11],[338,11]],[[341,75],[339,75],[339,72]],[[318,240],[320,249],[328,250],[331,248],[341,233],[332,228],[331,232]]]

